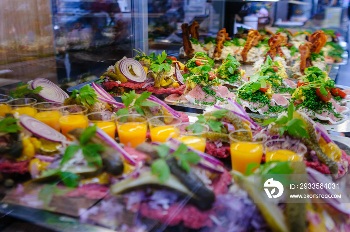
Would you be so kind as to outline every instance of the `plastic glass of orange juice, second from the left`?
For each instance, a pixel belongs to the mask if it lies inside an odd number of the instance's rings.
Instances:
[[[35,103],[36,99],[34,98],[20,98],[6,102],[6,105],[12,108],[10,111],[12,114],[18,113],[19,115],[25,114],[35,117],[37,110],[32,107]]]

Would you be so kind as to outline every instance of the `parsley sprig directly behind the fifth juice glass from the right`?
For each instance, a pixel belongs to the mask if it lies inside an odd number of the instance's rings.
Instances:
[[[121,100],[124,103],[126,108],[119,109],[116,112],[116,115],[120,116],[120,115],[129,114],[129,110],[131,110],[132,108],[134,108],[138,114],[145,115],[141,106],[143,107],[158,106],[158,104],[154,102],[145,101],[146,99],[149,98],[151,94],[152,94],[151,92],[143,92],[139,97],[136,98],[137,94],[135,90],[130,91],[130,93],[124,93],[124,95],[121,96]]]

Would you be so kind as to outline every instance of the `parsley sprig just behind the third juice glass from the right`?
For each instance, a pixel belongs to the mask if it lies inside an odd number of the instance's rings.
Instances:
[[[212,131],[214,132],[221,132],[221,129],[223,127],[223,124],[220,121],[216,121],[215,119],[212,119],[211,117],[215,117],[217,119],[221,119],[226,115],[226,113],[229,112],[227,109],[218,109],[208,118],[205,118],[203,115],[198,115],[197,118],[198,120],[186,127],[186,129],[192,129],[194,133],[200,133],[203,131],[203,124],[208,125]]]

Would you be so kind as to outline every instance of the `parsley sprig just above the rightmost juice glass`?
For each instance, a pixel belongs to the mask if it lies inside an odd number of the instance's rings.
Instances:
[[[288,107],[287,116],[270,118],[266,120],[263,125],[268,125],[274,122],[277,125],[284,125],[283,127],[279,128],[280,135],[283,135],[287,131],[290,135],[295,137],[309,138],[310,136],[306,131],[307,125],[301,119],[294,118],[294,110],[295,110],[294,105],[290,104]]]

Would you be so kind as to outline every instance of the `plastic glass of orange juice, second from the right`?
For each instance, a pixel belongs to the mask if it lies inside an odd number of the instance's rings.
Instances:
[[[266,137],[259,134],[258,131],[244,129],[229,134],[233,170],[245,174],[249,164],[260,165]]]

